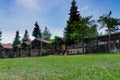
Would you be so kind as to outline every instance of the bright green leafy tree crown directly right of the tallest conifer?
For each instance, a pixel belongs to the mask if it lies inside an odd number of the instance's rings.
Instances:
[[[91,20],[92,16],[81,18],[80,22],[74,22],[73,34],[71,37],[76,43],[83,43],[85,38],[95,38],[98,36],[97,25],[94,20]]]

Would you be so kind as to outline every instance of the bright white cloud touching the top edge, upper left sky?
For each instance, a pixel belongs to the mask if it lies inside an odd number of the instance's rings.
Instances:
[[[16,3],[27,9],[37,10],[39,8],[39,0],[17,0]]]

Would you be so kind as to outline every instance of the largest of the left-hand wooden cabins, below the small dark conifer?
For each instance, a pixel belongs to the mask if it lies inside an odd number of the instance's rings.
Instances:
[[[31,56],[46,55],[50,52],[50,41],[36,38],[31,42],[31,47]]]

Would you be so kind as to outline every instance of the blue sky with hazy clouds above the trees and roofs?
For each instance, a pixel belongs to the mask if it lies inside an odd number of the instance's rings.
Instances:
[[[43,30],[45,26],[51,33],[63,36],[72,0],[0,0],[0,28],[2,42],[12,43],[17,30],[21,38],[25,29],[31,36],[35,21]],[[120,18],[119,0],[76,0],[81,16],[100,15],[112,10],[113,17]]]

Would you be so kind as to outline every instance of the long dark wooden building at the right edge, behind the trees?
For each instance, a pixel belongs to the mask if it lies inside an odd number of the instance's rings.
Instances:
[[[87,53],[120,52],[120,32],[85,40]]]

